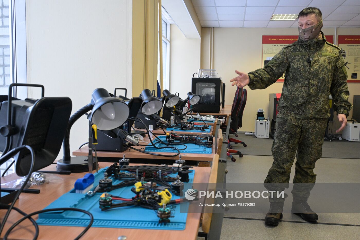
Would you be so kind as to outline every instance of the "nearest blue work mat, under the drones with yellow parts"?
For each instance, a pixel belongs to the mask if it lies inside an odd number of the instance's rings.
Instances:
[[[103,178],[104,171],[107,168],[100,169],[95,173],[95,184],[98,185],[99,180]],[[169,174],[170,177],[176,177],[177,174]],[[189,183],[194,180],[194,170],[189,173]],[[113,185],[122,182],[114,180]],[[95,188],[96,186],[94,186]],[[134,193],[130,189],[134,186],[119,188],[109,193],[116,196],[131,198]],[[152,209],[142,208],[140,206],[129,206],[114,208],[107,211],[101,211],[99,208],[99,197],[103,193],[97,192],[94,196],[87,199],[86,194],[75,193],[72,189],[68,193],[60,196],[53,203],[48,205],[49,208],[80,208],[89,211],[94,216],[92,227],[110,227],[110,228],[142,228],[142,229],[158,229],[158,230],[184,230],[187,213],[180,213],[180,204],[185,204],[186,209],[189,208],[189,202],[169,205],[171,208],[170,223],[159,223],[156,211]],[[172,194],[172,199],[179,199],[180,196]],[[183,205],[184,206],[184,205]],[[50,226],[82,226],[89,224],[89,216],[85,213],[66,211],[66,212],[50,212],[39,214],[37,223],[39,225]]]

